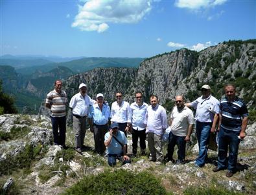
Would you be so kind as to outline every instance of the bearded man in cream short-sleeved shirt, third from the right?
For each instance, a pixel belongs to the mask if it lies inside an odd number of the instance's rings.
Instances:
[[[190,141],[194,116],[192,110],[185,106],[182,96],[176,96],[176,107],[170,114],[170,142],[167,149],[167,160],[174,162],[172,155],[175,145],[178,146],[178,160],[176,164],[185,163],[186,142]]]

